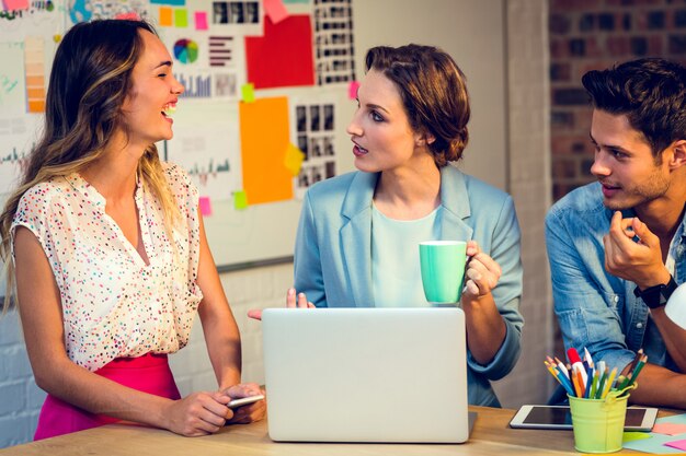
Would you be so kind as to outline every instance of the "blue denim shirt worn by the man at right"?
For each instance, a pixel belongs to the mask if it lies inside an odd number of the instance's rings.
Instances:
[[[625,211],[625,217],[634,217]],[[678,372],[648,306],[633,294],[636,284],[605,270],[603,236],[613,211],[603,206],[598,183],[570,192],[546,217],[554,313],[564,347],[588,349],[597,363],[624,369],[643,348],[651,363]],[[686,279],[686,220],[672,242],[674,280]]]

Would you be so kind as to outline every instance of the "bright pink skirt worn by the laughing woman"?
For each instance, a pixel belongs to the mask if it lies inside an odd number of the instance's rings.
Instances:
[[[179,388],[169,369],[167,354],[144,354],[140,358],[117,358],[95,371],[96,375],[151,395],[180,399]],[[47,395],[34,440],[55,437],[119,421],[105,414],[94,414]]]

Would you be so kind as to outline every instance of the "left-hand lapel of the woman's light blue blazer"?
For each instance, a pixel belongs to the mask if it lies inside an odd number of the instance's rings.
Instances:
[[[371,290],[371,198],[377,174],[357,173],[343,201],[341,248],[356,307],[374,307]]]

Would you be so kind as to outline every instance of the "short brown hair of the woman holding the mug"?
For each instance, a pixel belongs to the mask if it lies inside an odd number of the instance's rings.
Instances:
[[[367,51],[366,69],[391,80],[402,97],[413,130],[431,133],[436,165],[458,161],[469,141],[469,95],[465,74],[453,58],[433,46],[377,46]]]

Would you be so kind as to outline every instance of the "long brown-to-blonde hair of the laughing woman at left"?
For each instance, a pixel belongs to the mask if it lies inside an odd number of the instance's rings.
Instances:
[[[144,21],[80,23],[65,35],[57,49],[43,135],[31,151],[21,184],[0,214],[0,258],[7,277],[4,311],[15,294],[10,229],[19,202],[36,184],[82,171],[103,154],[116,129],[126,131],[122,104],[130,89],[134,66],[142,52],[140,31],[157,34]],[[155,144],[146,149],[138,162],[138,175],[162,206],[164,227],[174,245],[172,232],[180,210]]]

